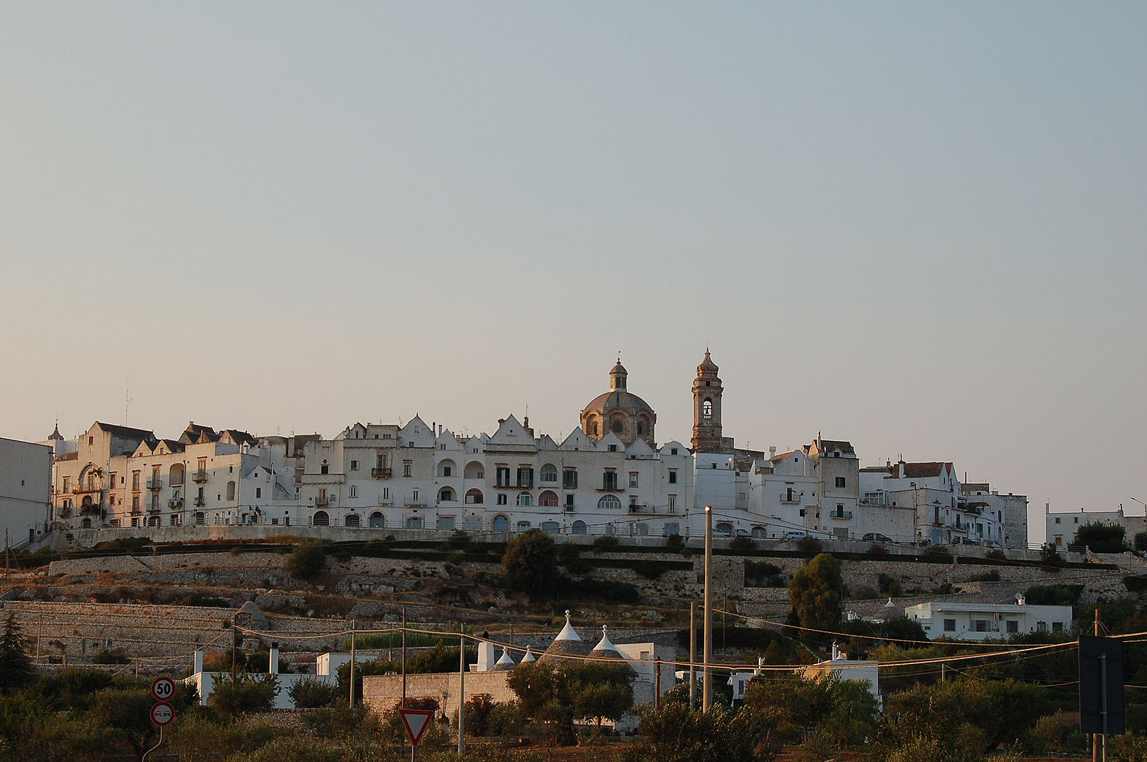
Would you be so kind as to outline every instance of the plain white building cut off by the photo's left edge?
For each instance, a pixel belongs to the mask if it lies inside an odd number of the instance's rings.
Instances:
[[[0,438],[0,525],[10,545],[44,534],[50,501],[52,448]]]

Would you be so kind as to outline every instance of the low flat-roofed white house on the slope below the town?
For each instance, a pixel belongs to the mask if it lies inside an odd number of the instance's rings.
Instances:
[[[934,602],[905,606],[904,615],[924,628],[929,639],[1006,639],[1027,633],[1070,633],[1071,606],[1016,603]]]

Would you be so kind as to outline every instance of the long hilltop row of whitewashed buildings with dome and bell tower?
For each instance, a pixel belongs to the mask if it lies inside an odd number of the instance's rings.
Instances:
[[[848,441],[738,449],[721,435],[721,380],[709,353],[693,383],[689,446],[654,439],[657,416],[609,391],[561,442],[509,416],[460,437],[419,416],[354,423],[333,439],[252,437],[188,424],[178,439],[94,423],[53,440],[58,527],[329,526],[559,534],[693,535],[704,506],[725,536],[1027,544],[1027,498],[961,485],[951,463],[860,468]]]

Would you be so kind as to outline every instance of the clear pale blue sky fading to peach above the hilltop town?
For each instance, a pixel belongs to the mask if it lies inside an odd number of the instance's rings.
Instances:
[[[0,1],[0,437],[818,432],[1147,500],[1147,6]],[[128,402],[130,399],[130,402]]]

